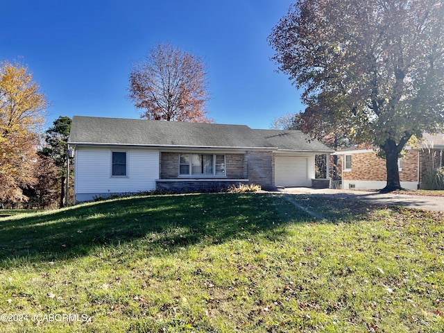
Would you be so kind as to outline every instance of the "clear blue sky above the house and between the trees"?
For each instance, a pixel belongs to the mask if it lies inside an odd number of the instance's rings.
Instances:
[[[159,42],[205,61],[216,123],[269,128],[303,110],[300,92],[275,73],[266,37],[290,0],[3,1],[0,60],[28,65],[59,116],[139,118],[128,75]]]

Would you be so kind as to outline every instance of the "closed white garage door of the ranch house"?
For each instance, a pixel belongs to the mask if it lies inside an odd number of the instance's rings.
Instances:
[[[275,185],[284,187],[309,186],[307,158],[275,157]]]

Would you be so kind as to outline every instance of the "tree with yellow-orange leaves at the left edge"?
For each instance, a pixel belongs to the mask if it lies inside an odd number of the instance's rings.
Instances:
[[[0,62],[0,203],[25,200],[37,182],[37,144],[47,102],[26,67]]]

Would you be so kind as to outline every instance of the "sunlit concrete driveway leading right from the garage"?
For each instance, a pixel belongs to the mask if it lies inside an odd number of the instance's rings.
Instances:
[[[375,205],[406,206],[418,210],[435,210],[444,212],[444,197],[409,196],[407,194],[380,194],[379,192],[351,191],[344,189],[311,189],[308,187],[291,187],[280,190],[286,194],[311,194],[343,200],[360,200]]]

